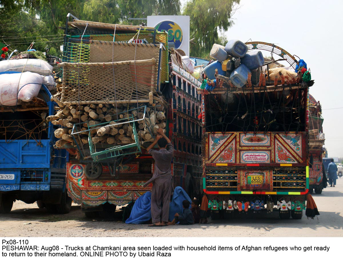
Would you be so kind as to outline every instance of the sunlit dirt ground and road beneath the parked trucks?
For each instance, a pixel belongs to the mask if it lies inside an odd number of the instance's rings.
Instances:
[[[276,211],[270,214],[239,214],[232,220],[211,220],[190,226],[148,227],[125,224],[118,209],[112,219],[86,219],[80,206],[73,204],[70,213],[49,214],[36,204],[16,201],[9,214],[0,215],[0,237],[342,237],[343,178],[336,187],[313,194],[320,215],[314,220],[281,220]]]

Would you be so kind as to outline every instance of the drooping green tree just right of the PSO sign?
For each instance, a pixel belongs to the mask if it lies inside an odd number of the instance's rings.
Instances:
[[[240,0],[190,0],[184,15],[190,16],[190,55],[207,57],[212,45],[220,43],[218,30],[232,26],[231,16]]]

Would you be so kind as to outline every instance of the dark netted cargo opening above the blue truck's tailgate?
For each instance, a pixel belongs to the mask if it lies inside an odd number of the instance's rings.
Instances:
[[[32,113],[35,114],[32,119]],[[35,111],[2,113],[0,120],[0,139],[10,143],[13,140],[40,140],[47,139],[48,124]],[[31,119],[24,119],[31,118]]]

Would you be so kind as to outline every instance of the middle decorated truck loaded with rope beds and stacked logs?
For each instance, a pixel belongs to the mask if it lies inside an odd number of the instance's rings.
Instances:
[[[52,123],[70,149],[67,189],[88,217],[113,212],[152,186],[146,148],[163,128],[173,141],[173,185],[201,190],[201,81],[155,28],[81,21],[68,14],[62,83]],[[199,194],[200,195],[200,194]]]

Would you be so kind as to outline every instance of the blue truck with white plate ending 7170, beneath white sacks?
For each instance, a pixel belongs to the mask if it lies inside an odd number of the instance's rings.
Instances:
[[[9,73],[9,72],[6,72]],[[50,213],[68,213],[66,191],[69,153],[54,149],[54,125],[45,120],[54,114],[50,91],[42,85],[34,107],[0,109],[0,213],[9,213],[15,200],[37,201]],[[26,102],[25,102],[26,103]]]

